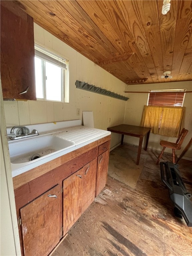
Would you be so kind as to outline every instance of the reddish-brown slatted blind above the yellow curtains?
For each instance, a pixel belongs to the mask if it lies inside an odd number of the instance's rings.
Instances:
[[[150,92],[148,106],[182,107],[185,91]]]

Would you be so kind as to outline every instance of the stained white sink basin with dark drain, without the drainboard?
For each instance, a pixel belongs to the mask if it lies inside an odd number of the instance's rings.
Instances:
[[[43,135],[32,138],[20,139],[9,143],[10,160],[12,164],[35,161],[37,158],[53,152],[68,148],[74,142],[54,135]],[[39,155],[37,158],[34,155]],[[34,156],[34,160],[31,160]]]

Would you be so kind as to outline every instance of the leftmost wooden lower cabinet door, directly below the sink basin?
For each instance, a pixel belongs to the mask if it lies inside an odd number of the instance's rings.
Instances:
[[[60,199],[57,185],[20,209],[24,255],[48,255],[59,242]]]

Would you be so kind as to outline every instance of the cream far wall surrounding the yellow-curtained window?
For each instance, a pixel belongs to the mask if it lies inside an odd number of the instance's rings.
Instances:
[[[160,84],[141,84],[141,85],[127,85],[126,91],[149,91],[159,89],[187,89],[192,91],[192,81],[185,82],[166,82]],[[126,104],[125,124],[139,125],[142,117],[143,106],[147,105],[148,93],[127,93],[129,100]],[[177,150],[176,154],[180,155],[189,140],[192,137],[192,93],[186,93],[183,107],[186,107],[184,127],[189,130],[182,144],[181,150]],[[155,135],[150,133],[148,147],[152,149],[162,150],[160,140],[168,140],[175,142],[176,138]],[[138,145],[137,138],[125,136],[124,141],[127,143]],[[166,148],[166,152],[171,152],[171,149]],[[185,157],[192,160],[192,147],[187,151]]]

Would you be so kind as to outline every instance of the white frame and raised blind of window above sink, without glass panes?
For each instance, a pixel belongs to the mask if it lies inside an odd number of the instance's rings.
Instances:
[[[35,44],[35,57],[42,60],[42,83],[43,83],[43,98],[37,98],[37,100],[55,101],[46,99],[46,74],[45,74],[45,62],[54,64],[62,69],[61,72],[61,101],[56,102],[69,102],[69,62],[67,59],[60,55],[53,53],[52,51]]]

